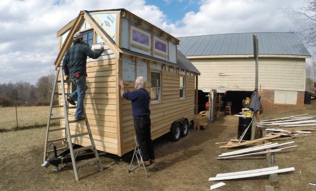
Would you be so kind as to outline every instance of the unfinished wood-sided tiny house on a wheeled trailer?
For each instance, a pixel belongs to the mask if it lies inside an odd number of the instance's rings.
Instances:
[[[61,65],[76,32],[82,33],[83,41],[92,49],[100,48],[99,43],[105,47],[98,59],[87,59],[88,90],[84,100],[98,150],[122,156],[135,148],[131,101],[121,98],[119,77],[129,84],[129,91],[134,90],[137,76],[146,78],[152,139],[173,131],[173,122],[178,119],[185,118],[182,121],[186,125],[193,119],[195,78],[200,72],[177,50],[178,39],[126,9],[80,11],[57,32],[56,67]],[[63,108],[60,113],[64,113]],[[64,123],[62,119],[62,127]],[[83,132],[85,124],[70,124],[70,130],[74,134]],[[74,138],[73,143],[86,146],[89,140]]]

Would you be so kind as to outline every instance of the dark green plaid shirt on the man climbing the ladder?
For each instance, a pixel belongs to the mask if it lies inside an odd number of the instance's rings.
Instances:
[[[63,60],[65,76],[74,78],[76,73],[87,76],[87,56],[93,59],[100,57],[104,49],[94,52],[87,45],[75,43],[67,51]]]

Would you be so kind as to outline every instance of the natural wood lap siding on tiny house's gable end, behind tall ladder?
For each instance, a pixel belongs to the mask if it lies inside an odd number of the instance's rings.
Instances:
[[[103,54],[103,58],[107,58],[106,50]],[[96,148],[118,154],[115,71],[115,58],[99,61],[91,59],[91,62],[87,62],[88,90],[84,107]],[[75,112],[76,109],[69,110],[70,114],[74,115]],[[64,113],[63,108],[61,113]],[[74,117],[70,115],[69,120],[74,120]],[[64,120],[61,120],[61,126],[65,126]],[[70,130],[73,134],[86,132],[86,127],[84,123],[74,123],[70,124]],[[87,146],[90,140],[88,136],[76,137],[73,143]]]

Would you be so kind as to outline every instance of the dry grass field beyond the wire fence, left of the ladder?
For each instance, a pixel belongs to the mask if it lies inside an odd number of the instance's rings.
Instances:
[[[53,113],[58,113],[59,108],[53,108]],[[49,106],[18,106],[0,107],[0,131],[16,127],[16,113],[19,128],[32,126],[46,126]]]

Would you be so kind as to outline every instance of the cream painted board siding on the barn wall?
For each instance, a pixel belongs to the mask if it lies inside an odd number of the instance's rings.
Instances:
[[[190,59],[201,71],[199,90],[252,91],[255,82],[253,58]],[[305,90],[304,58],[259,58],[259,83],[262,89]]]

